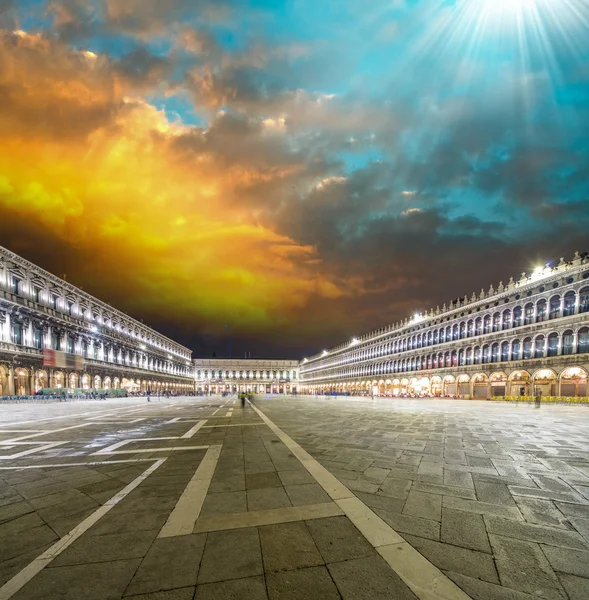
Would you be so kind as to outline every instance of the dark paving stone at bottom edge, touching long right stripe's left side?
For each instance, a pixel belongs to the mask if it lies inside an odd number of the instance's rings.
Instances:
[[[344,600],[417,600],[417,596],[380,556],[327,565]]]

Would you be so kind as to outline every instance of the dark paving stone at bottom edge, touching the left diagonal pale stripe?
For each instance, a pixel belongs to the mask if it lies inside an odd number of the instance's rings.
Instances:
[[[47,567],[33,577],[13,600],[111,600],[120,598],[140,559]]]

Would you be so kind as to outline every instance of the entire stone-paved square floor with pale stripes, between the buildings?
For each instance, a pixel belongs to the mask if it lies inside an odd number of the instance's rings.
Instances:
[[[0,600],[589,598],[582,408],[0,409]]]

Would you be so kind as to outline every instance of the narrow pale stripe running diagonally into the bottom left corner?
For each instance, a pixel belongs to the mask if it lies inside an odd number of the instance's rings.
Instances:
[[[106,504],[96,509],[89,517],[84,519],[79,525],[74,527],[60,540],[55,542],[48,550],[40,554],[32,563],[28,564],[22,571],[17,573],[12,579],[6,582],[0,588],[0,600],[12,598],[20,589],[22,589],[35,575],[39,574],[54,558],[59,556],[68,546],[73,544],[82,536],[92,525],[99,521],[125,496],[130,494],[144,479],[149,477],[158,467],[166,461],[165,458],[156,461],[148,467],[139,477],[135,478],[129,485],[124,487],[118,494],[115,494]]]

